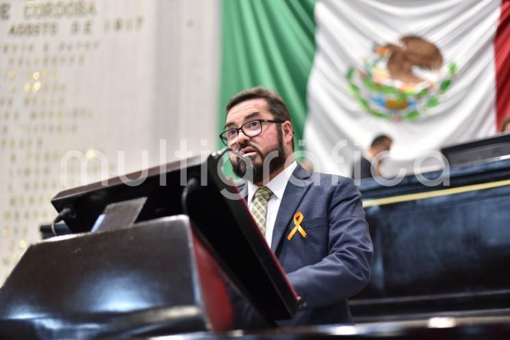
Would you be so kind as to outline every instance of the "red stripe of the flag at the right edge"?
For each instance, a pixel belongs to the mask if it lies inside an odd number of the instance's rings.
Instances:
[[[496,129],[510,117],[510,0],[502,0],[498,31],[494,40],[496,58]]]

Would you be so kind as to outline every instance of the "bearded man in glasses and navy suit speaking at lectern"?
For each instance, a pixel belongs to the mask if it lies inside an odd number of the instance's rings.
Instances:
[[[352,323],[347,299],[368,283],[372,261],[353,181],[296,163],[290,114],[276,92],[244,90],[226,110],[220,137],[233,170],[248,180],[241,188],[248,207],[301,298],[296,316],[280,326]],[[241,328],[263,324],[253,310],[236,315]]]

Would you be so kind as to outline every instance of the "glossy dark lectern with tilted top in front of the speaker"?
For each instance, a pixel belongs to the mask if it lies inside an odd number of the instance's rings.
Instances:
[[[25,252],[0,289],[0,338],[221,332],[233,327],[235,291],[268,322],[292,317],[296,293],[244,200],[222,193],[240,198],[217,172],[220,156],[55,196],[75,234]]]

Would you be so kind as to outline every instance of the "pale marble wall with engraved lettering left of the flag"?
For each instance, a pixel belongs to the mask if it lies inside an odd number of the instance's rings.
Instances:
[[[62,189],[216,149],[219,10],[0,0],[0,285]]]

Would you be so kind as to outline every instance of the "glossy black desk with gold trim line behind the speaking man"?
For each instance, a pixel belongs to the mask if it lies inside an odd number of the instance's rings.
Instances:
[[[362,181],[374,260],[368,287],[350,300],[355,321],[510,314],[510,159],[450,168],[449,181]]]

